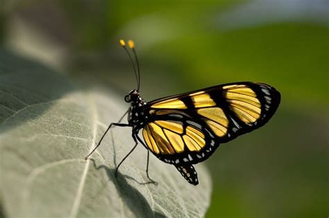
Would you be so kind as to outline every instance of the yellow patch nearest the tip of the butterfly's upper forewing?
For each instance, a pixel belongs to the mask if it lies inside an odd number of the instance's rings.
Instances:
[[[226,86],[226,99],[230,109],[246,123],[255,122],[260,118],[262,109],[256,93],[245,85]]]

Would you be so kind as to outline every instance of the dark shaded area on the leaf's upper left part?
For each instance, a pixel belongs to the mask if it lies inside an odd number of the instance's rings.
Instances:
[[[40,116],[73,90],[53,69],[0,48],[0,132]]]

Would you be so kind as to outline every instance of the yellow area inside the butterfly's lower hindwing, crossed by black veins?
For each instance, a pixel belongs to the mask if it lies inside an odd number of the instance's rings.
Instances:
[[[183,125],[174,121],[150,122],[144,127],[143,136],[147,146],[155,154],[176,154],[185,149],[200,151],[205,147],[203,132],[187,126],[184,134]]]

